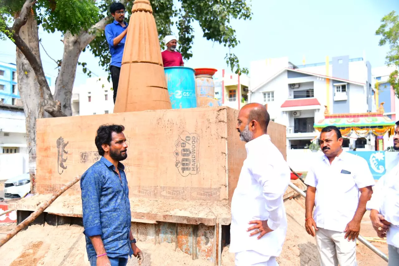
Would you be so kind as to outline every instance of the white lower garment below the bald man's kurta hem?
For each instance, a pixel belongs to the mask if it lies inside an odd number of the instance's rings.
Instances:
[[[235,253],[235,266],[278,266],[274,256],[265,256],[253,250]]]

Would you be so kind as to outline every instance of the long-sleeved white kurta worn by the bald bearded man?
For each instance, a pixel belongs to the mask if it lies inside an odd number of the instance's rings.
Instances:
[[[253,250],[264,256],[280,255],[287,230],[282,196],[290,182],[290,168],[270,140],[262,135],[245,144],[247,158],[231,201],[230,252]],[[251,220],[268,220],[273,232],[249,236]]]

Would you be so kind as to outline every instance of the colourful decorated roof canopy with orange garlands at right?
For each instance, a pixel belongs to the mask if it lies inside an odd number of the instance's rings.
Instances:
[[[369,132],[383,136],[385,133],[393,135],[395,121],[383,115],[384,109],[381,103],[376,113],[342,113],[329,114],[324,111],[324,119],[314,123],[314,128],[321,131],[323,127],[334,125],[341,131],[342,136],[349,137],[354,132],[358,137],[365,137]]]

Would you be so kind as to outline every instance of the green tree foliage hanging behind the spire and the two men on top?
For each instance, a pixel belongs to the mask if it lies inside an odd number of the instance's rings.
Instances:
[[[111,0],[104,1],[103,5],[99,6],[101,12],[108,12],[107,14],[109,14],[108,9],[111,2]],[[174,6],[172,0],[151,0],[150,2],[161,42],[166,35],[171,33],[171,27],[177,20],[179,47],[185,60],[193,56],[191,52],[194,40],[192,23],[198,21],[203,30],[203,37],[222,44],[228,49],[225,60],[231,71],[248,73],[248,69],[241,68],[237,56],[231,52],[239,44],[235,30],[230,26],[231,20],[251,19],[251,7],[245,0],[178,0],[181,4],[180,7]],[[126,4],[126,10],[129,14],[132,4],[133,1]],[[126,21],[128,22],[128,19]],[[112,22],[112,19],[110,22]],[[104,31],[89,46],[91,52],[99,58],[100,65],[109,71],[111,55]],[[161,44],[161,47],[164,47],[164,44]]]

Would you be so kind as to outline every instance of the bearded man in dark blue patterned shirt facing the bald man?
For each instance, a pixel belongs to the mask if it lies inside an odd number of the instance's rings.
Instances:
[[[129,189],[124,165],[127,157],[122,125],[102,125],[95,144],[101,159],[82,175],[83,226],[91,266],[125,266],[128,257],[143,254],[130,231]]]

